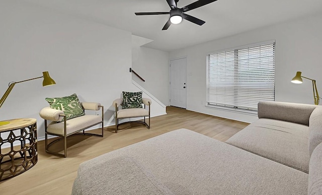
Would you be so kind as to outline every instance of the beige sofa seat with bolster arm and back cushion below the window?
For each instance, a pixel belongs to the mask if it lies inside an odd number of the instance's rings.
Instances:
[[[322,142],[322,107],[259,102],[258,117],[226,143],[308,173],[310,154]]]

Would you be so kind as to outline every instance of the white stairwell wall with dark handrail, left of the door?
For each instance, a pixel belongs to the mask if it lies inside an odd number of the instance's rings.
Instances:
[[[132,79],[164,105],[169,105],[169,52],[142,47],[152,40],[132,36],[132,68],[145,82]]]

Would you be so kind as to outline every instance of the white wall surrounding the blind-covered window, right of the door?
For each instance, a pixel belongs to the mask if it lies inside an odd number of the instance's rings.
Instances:
[[[318,90],[322,91],[321,21],[322,14],[309,16],[170,52],[170,59],[187,56],[187,109],[241,121],[256,120],[256,116],[212,109],[201,104],[206,102],[206,54],[274,39],[275,101],[313,104],[311,82],[304,80],[298,85],[290,80],[297,71],[301,71],[302,76],[315,79]]]

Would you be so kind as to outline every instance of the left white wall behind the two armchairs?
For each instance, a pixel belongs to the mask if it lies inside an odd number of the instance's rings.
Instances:
[[[0,120],[37,119],[38,138],[44,137],[41,108],[46,97],[76,93],[81,101],[105,106],[105,124],[114,118],[114,99],[132,84],[131,33],[18,0],[0,1],[0,93],[10,81],[42,76],[48,71],[56,85],[42,79],[19,83],[0,109]],[[3,94],[0,94],[2,96]],[[143,95],[146,96],[146,95]],[[151,115],[165,114],[152,104]]]

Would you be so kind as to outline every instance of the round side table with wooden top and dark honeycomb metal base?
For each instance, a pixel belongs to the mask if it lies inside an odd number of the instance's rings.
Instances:
[[[29,170],[38,161],[37,120],[18,118],[8,121],[9,124],[0,126],[0,181]],[[20,145],[18,150],[18,146],[14,148],[17,144]]]

